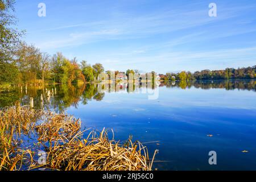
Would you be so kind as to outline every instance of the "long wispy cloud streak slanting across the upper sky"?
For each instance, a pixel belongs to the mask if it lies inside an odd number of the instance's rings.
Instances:
[[[61,40],[46,40],[43,44],[36,44],[40,48],[61,48],[67,46],[81,45],[86,43],[98,42],[101,40],[122,40],[148,38],[155,34],[164,34],[179,30],[187,30],[193,27],[205,26],[206,24],[216,24],[223,20],[235,18],[238,12],[250,9],[251,6],[224,8],[218,11],[220,14],[213,19],[208,16],[208,10],[169,10],[164,12],[155,12],[146,15],[127,15],[119,13],[118,17],[105,19],[98,22],[88,22],[80,24],[70,24],[61,27],[49,28],[44,31],[59,31],[65,29]],[[77,29],[77,30],[76,30]],[[88,31],[88,29],[90,31]],[[250,32],[254,30],[243,30],[240,32]],[[230,33],[226,33],[228,34]],[[231,34],[236,34],[233,32]],[[239,34],[239,32],[237,33]],[[196,33],[200,35],[200,33]],[[211,36],[221,36],[220,34]],[[176,44],[187,41],[190,35],[177,38]],[[174,46],[175,42],[172,42]]]

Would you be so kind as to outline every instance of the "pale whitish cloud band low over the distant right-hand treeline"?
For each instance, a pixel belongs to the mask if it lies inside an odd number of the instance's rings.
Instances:
[[[105,55],[102,55],[105,57]],[[119,57],[119,56],[117,56]],[[116,59],[112,55],[113,59]],[[97,57],[97,59],[101,59]],[[244,62],[247,60],[247,62]],[[235,49],[221,49],[218,51],[185,51],[185,52],[164,52],[154,56],[126,56],[119,59],[115,63],[115,67],[143,67],[144,69],[150,68],[150,65],[157,65],[152,68],[156,72],[161,72],[163,66],[168,68],[175,68],[176,70],[197,71],[200,69],[223,69],[226,67],[240,67],[254,65],[256,60],[256,47],[248,48],[235,48]],[[111,66],[111,64],[109,65]]]

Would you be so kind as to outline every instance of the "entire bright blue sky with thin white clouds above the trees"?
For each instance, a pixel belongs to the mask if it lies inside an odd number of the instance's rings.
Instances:
[[[46,17],[38,4],[46,4]],[[217,17],[208,15],[209,3]],[[158,73],[256,65],[256,2],[20,0],[18,26],[41,51],[105,70]]]

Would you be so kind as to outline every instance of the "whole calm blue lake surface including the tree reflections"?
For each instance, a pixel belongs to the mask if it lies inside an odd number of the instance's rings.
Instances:
[[[226,80],[23,86],[1,93],[0,107],[32,102],[35,109],[80,118],[82,128],[113,129],[116,140],[131,135],[148,147],[150,156],[159,150],[154,163],[158,170],[256,170],[255,84]],[[209,165],[209,151],[216,151],[217,165]]]

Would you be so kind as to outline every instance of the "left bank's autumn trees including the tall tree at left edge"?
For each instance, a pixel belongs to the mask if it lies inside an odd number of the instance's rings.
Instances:
[[[0,85],[85,82],[104,71],[100,63],[80,65],[76,57],[69,60],[60,52],[50,56],[22,42],[25,31],[14,28],[14,4],[15,0],[0,1]]]

